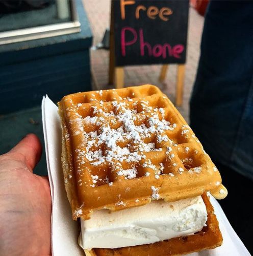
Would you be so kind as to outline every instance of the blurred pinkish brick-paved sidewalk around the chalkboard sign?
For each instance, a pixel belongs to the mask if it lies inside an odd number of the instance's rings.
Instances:
[[[83,0],[93,32],[93,46],[102,41],[106,28],[110,27],[110,0]],[[183,105],[179,108],[181,114],[189,121],[189,98],[195,79],[201,34],[204,18],[190,8],[187,63]],[[97,84],[96,89],[112,88],[108,86],[109,51],[104,49],[91,50],[91,69]],[[125,69],[125,86],[137,86],[151,83],[158,86],[174,102],[176,66],[169,67],[164,83],[159,82],[161,65],[131,66]]]

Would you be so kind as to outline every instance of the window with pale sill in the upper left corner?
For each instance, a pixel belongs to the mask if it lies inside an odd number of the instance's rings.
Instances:
[[[73,0],[0,1],[0,45],[79,31]]]

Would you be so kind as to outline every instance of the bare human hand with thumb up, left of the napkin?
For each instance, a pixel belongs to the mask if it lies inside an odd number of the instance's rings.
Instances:
[[[0,156],[0,254],[50,255],[51,196],[48,179],[33,174],[41,157],[29,134]]]

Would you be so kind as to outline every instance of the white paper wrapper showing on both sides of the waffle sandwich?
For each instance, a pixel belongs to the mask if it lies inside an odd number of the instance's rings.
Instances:
[[[52,195],[52,254],[54,256],[84,256],[78,245],[79,222],[72,220],[61,166],[61,124],[57,106],[47,96],[42,100],[42,120],[48,177]],[[211,197],[223,236],[222,246],[191,253],[191,256],[247,256],[250,253],[227,220],[218,202]]]

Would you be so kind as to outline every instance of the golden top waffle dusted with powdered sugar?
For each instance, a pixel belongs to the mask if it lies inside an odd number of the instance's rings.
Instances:
[[[227,195],[210,157],[155,86],[77,93],[59,102],[73,219],[164,199]]]

